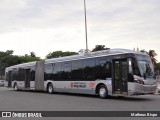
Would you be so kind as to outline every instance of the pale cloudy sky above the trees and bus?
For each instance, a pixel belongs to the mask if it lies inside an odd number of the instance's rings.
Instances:
[[[155,50],[160,62],[160,0],[86,0],[88,48]],[[0,0],[0,51],[45,58],[85,49],[84,0]]]

